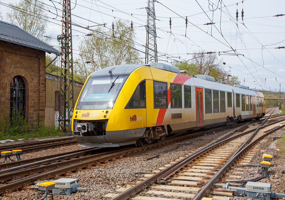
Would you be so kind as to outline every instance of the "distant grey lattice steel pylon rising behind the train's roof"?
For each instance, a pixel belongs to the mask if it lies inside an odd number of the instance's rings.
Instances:
[[[156,30],[155,30],[155,0],[148,0],[146,7],[147,24],[146,28],[146,44],[145,44],[145,64],[148,62],[157,62],[157,47],[156,47]]]

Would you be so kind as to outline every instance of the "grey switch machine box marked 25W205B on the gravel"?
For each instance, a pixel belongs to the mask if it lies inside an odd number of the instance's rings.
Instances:
[[[69,195],[77,191],[87,191],[87,187],[78,187],[78,179],[61,178],[54,181],[55,186],[53,192],[56,194]]]

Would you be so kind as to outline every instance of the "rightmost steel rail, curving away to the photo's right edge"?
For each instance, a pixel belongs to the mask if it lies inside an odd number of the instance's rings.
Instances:
[[[234,165],[235,161],[238,160],[239,156],[244,153],[244,151],[247,151],[249,149],[249,147],[251,147],[253,144],[255,144],[257,141],[259,141],[260,139],[264,138],[265,136],[267,136],[268,134],[283,128],[285,126],[279,126],[276,127],[275,129],[263,134],[262,136],[258,137],[257,139],[255,139],[254,141],[250,142],[249,144],[247,144],[247,146],[245,146],[243,149],[241,149],[240,151],[236,151],[234,153],[234,156],[232,156],[224,165],[223,167],[221,167],[221,169],[219,169],[219,171],[217,171],[217,173],[215,173],[215,175],[207,182],[206,185],[204,185],[204,187],[197,193],[197,195],[195,195],[195,197],[192,200],[200,200],[204,195],[207,196],[207,193],[209,193],[209,191],[211,191],[211,187],[212,185],[218,181],[220,179],[220,177],[223,175],[223,173],[225,173],[225,171],[227,171],[227,169],[229,169],[229,167],[231,165]]]

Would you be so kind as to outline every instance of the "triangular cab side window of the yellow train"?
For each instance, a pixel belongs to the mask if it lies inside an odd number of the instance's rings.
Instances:
[[[145,80],[139,83],[127,108],[146,108]]]

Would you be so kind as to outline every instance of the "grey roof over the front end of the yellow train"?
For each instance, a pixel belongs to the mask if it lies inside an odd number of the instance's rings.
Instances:
[[[109,75],[109,70],[112,71],[112,74],[131,74],[131,72],[133,72],[135,69],[139,67],[143,67],[143,66],[149,66],[149,67],[158,68],[158,69],[180,74],[180,70],[178,69],[178,67],[174,67],[170,64],[164,64],[161,62],[153,62],[150,64],[144,64],[144,65],[122,64],[122,65],[111,66],[111,67],[107,67],[107,68],[95,71],[91,74],[91,76]]]

